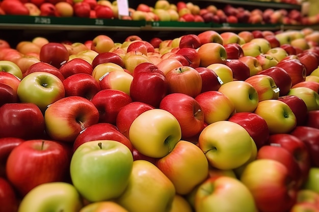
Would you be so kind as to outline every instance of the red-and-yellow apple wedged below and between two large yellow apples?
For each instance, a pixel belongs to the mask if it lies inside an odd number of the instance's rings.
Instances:
[[[176,193],[181,195],[190,193],[208,176],[204,153],[189,141],[178,141],[172,152],[158,159],[155,165],[172,181]]]

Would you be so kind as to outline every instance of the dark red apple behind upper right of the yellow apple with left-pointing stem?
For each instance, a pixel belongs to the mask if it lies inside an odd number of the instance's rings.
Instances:
[[[270,135],[267,122],[256,113],[236,112],[228,120],[245,128],[254,140],[257,149],[261,148],[269,140]]]

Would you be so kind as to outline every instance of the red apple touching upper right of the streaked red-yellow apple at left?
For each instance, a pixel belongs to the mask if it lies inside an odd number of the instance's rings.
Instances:
[[[129,95],[114,89],[100,90],[92,99],[92,103],[99,111],[99,123],[114,125],[120,109],[131,102]]]

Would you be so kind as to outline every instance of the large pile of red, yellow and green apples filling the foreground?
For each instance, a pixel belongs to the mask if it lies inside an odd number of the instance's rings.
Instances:
[[[1,212],[319,210],[318,31],[2,40],[0,68]]]

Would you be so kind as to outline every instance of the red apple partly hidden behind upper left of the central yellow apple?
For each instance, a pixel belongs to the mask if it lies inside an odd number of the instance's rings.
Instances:
[[[143,102],[131,102],[123,106],[117,114],[116,127],[128,138],[129,128],[134,119],[141,113],[150,109],[154,109],[154,107]]]

